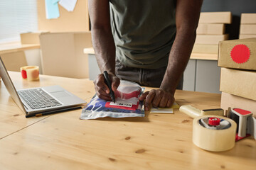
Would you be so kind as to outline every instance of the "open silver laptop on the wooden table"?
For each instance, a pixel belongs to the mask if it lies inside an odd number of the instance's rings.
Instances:
[[[11,98],[21,108],[21,111],[26,113],[26,118],[81,108],[86,104],[84,100],[58,85],[16,90],[1,57],[0,77]]]

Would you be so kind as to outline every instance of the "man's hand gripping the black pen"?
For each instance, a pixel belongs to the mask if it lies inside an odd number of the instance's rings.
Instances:
[[[117,87],[120,84],[120,80],[114,74],[109,74],[110,81],[112,82],[112,91],[116,91]],[[105,101],[112,101],[110,98],[110,89],[107,87],[105,77],[103,74],[98,74],[97,78],[94,81],[95,91],[99,98],[102,98]]]

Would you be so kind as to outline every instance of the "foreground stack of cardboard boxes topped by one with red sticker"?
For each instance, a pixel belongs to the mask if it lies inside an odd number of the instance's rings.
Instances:
[[[242,108],[256,115],[256,38],[219,43],[221,108]]]

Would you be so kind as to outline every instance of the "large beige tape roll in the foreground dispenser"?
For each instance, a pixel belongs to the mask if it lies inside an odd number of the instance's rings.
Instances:
[[[220,123],[223,120],[226,120],[229,123],[228,128],[210,129],[203,126],[201,120],[206,120],[206,118],[211,117],[220,118]],[[197,147],[213,152],[221,152],[232,149],[235,146],[236,128],[237,125],[235,121],[219,115],[203,115],[198,118],[194,118],[193,143]]]

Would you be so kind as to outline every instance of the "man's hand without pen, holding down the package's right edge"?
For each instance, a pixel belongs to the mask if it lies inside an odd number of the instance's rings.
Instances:
[[[139,97],[140,101],[145,100],[145,111],[149,111],[151,104],[154,108],[170,108],[174,103],[174,94],[171,94],[163,89],[146,91]]]

